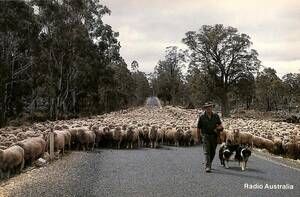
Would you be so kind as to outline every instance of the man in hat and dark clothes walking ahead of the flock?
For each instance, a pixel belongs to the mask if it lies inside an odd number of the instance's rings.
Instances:
[[[211,172],[211,164],[215,157],[218,133],[223,130],[220,117],[213,113],[214,104],[205,103],[204,113],[200,114],[197,125],[198,142],[200,136],[203,139],[203,151],[205,155],[205,171]]]

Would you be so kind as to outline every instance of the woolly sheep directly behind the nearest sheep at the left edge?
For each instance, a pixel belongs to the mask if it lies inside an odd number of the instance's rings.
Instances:
[[[15,143],[24,149],[25,164],[31,165],[33,161],[40,158],[46,151],[46,142],[41,137],[29,138]]]

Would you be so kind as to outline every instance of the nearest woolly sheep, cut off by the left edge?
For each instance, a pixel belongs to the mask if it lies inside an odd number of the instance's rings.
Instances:
[[[18,145],[0,149],[0,179],[10,178],[11,172],[19,173],[24,168],[24,149]]]

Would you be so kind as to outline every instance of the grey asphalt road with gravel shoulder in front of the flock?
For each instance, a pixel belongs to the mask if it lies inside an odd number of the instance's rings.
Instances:
[[[218,158],[204,172],[202,147],[73,152],[2,185],[10,196],[300,196],[300,171],[251,157],[242,172]],[[289,184],[292,190],[246,189],[244,184]],[[1,196],[1,195],[0,195]]]

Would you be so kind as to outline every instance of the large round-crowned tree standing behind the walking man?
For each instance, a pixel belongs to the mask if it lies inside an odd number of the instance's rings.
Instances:
[[[209,75],[214,82],[210,89],[221,102],[222,114],[228,116],[228,94],[243,75],[256,72],[260,66],[257,52],[250,48],[250,37],[217,24],[187,32],[183,42],[190,50],[190,65]]]

